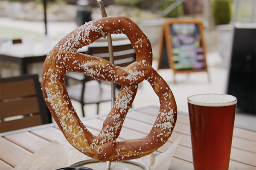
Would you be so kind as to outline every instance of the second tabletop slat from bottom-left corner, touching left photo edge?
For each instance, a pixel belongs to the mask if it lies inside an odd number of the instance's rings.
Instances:
[[[0,158],[12,167],[17,166],[31,155],[31,152],[0,137]]]

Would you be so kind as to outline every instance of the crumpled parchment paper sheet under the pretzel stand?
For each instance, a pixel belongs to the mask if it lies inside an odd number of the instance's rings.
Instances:
[[[180,138],[181,136],[166,152],[157,156],[151,153],[136,160],[147,164],[150,170],[168,170]],[[75,148],[63,146],[54,141],[35,152],[13,170],[56,170],[85,159],[89,157]]]

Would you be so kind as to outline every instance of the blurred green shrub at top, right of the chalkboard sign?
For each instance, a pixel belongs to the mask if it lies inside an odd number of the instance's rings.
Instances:
[[[213,0],[213,16],[216,25],[230,23],[232,2],[232,0]]]

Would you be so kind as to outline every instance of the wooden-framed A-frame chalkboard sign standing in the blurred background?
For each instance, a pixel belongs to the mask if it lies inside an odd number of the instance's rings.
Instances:
[[[204,26],[200,21],[169,20],[164,24],[158,69],[171,68],[175,74],[209,72],[206,63]]]

